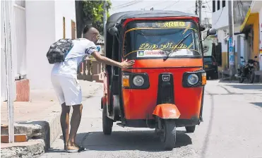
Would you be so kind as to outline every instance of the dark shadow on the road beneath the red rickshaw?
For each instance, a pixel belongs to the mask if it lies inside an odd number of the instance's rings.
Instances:
[[[159,138],[152,130],[113,131],[111,135],[104,135],[102,132],[79,133],[77,135],[78,142],[79,138],[83,138],[82,145],[88,150],[163,151]],[[183,147],[190,144],[192,144],[192,141],[189,135],[186,135],[184,131],[178,130],[175,147]]]

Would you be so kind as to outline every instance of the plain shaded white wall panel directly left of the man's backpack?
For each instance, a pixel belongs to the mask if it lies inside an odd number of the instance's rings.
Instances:
[[[52,87],[47,51],[55,42],[54,1],[25,1],[27,71],[30,89]]]

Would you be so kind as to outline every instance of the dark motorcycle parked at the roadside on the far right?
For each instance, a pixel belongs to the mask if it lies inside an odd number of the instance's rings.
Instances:
[[[240,59],[244,59],[243,56],[241,56]],[[257,56],[255,56],[255,59],[257,59]],[[239,68],[237,68],[238,73],[235,77],[239,78],[239,83],[243,83],[245,79],[249,80],[249,83],[254,83],[255,70],[257,69],[258,61],[249,59],[246,63],[246,60],[244,59],[242,62],[244,64],[239,63]]]

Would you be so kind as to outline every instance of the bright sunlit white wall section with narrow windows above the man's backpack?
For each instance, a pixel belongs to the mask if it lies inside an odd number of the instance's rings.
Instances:
[[[71,38],[71,20],[76,23],[74,0],[55,1],[56,40],[63,38],[63,16],[66,19],[66,38]]]

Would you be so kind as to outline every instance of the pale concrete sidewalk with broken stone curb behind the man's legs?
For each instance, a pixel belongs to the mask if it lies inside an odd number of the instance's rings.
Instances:
[[[79,80],[83,100],[97,90],[102,83]],[[26,134],[28,142],[1,143],[1,157],[35,157],[47,150],[61,133],[61,106],[54,90],[31,90],[30,102],[14,102],[15,134]],[[1,135],[8,134],[8,109],[1,104]]]

